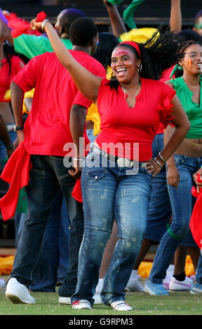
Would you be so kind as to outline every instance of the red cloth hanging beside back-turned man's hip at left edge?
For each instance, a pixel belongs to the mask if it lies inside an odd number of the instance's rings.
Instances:
[[[0,199],[1,215],[4,221],[15,215],[18,204],[19,191],[29,182],[29,170],[32,168],[30,155],[27,153],[24,143],[20,143],[11,155],[1,174],[1,179],[11,184],[8,192]]]

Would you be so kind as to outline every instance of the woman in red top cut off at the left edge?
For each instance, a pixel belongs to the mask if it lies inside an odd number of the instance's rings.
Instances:
[[[22,59],[14,55],[13,48],[6,43],[4,38],[0,38],[0,113],[7,125],[12,142],[17,138],[17,135],[13,131],[14,118],[10,106],[11,99],[6,98],[5,94],[10,89],[11,80],[22,66],[24,66]],[[6,150],[4,144],[0,142],[0,162],[6,158],[6,153],[8,154],[12,150],[12,144],[8,145]]]

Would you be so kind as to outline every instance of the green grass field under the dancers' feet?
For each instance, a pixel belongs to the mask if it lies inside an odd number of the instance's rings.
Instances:
[[[5,288],[0,288],[0,315],[69,315],[69,316],[135,316],[135,315],[201,315],[202,295],[189,292],[170,293],[168,296],[150,296],[147,293],[126,293],[126,302],[133,311],[114,311],[96,304],[93,309],[76,310],[58,303],[58,293],[32,293],[36,304],[12,304],[6,300]]]

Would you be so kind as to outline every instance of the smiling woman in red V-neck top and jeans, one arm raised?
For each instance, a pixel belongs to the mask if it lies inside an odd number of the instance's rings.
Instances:
[[[182,57],[182,45],[173,41],[173,34],[168,31],[157,39],[154,36],[147,47],[135,42],[121,43],[112,52],[115,80],[109,81],[83,69],[62,45],[50,22],[45,20],[41,25],[33,20],[31,24],[46,31],[58,59],[79,90],[97,104],[101,118],[101,132],[93,151],[88,153],[81,176],[85,223],[72,307],[90,309],[93,305],[102,255],[115,218],[119,241],[101,297],[103,304],[129,311],[132,308],[125,302],[123,289],[140,251],[152,176],[160,172],[189,130],[189,120],[175,91],[151,78],[159,79],[166,68]],[[165,127],[172,122],[176,129],[158,157],[152,159],[152,141],[160,122]],[[79,136],[73,130],[72,137],[77,146],[72,176],[77,177],[81,171],[81,150]]]

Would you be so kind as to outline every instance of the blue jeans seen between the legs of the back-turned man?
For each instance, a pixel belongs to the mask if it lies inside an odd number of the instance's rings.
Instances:
[[[21,214],[18,230],[15,232],[17,248],[26,218],[27,214]],[[67,205],[62,191],[59,190],[43,235],[41,256],[32,272],[30,290],[55,292],[57,281],[64,281],[69,262],[69,225]]]

